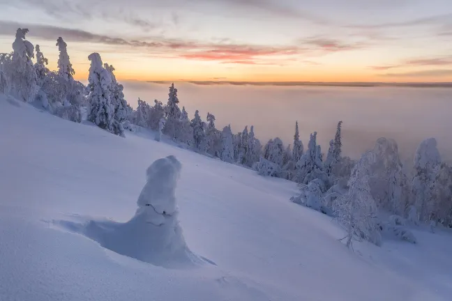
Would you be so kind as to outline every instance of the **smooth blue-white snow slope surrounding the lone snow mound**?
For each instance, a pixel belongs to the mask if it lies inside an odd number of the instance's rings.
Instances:
[[[450,300],[452,236],[338,241],[329,217],[289,202],[296,185],[156,142],[123,139],[0,95],[0,300]],[[154,160],[182,164],[179,221],[211,262],[163,268],[54,220],[127,222]]]

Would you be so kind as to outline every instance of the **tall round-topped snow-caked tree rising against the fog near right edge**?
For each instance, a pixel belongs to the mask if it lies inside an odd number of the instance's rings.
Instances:
[[[427,221],[428,203],[432,199],[429,187],[435,180],[435,168],[441,163],[435,138],[425,139],[416,150],[414,157],[414,177],[412,179],[412,194],[421,222]]]

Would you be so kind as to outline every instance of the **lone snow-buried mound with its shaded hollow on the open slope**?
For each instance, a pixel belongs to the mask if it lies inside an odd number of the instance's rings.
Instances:
[[[86,219],[82,223],[54,224],[96,240],[116,253],[165,268],[211,263],[188,249],[177,219],[175,190],[181,167],[172,155],[151,164],[146,171],[147,183],[137,201],[138,209],[126,223]]]

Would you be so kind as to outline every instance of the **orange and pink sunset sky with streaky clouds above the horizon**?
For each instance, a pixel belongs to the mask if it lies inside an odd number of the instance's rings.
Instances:
[[[452,82],[451,0],[0,0],[0,52],[17,27],[81,80]]]

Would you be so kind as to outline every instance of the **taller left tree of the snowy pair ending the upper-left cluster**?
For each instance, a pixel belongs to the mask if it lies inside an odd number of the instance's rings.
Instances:
[[[110,72],[103,68],[102,59],[96,52],[88,56],[91,61],[88,77],[89,111],[87,120],[98,125],[99,128],[120,134],[114,126],[114,105],[111,100],[112,77]]]

